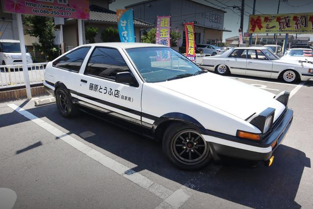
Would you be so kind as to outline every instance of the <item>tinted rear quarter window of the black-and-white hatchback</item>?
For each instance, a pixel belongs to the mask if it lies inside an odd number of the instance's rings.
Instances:
[[[54,67],[79,72],[90,47],[78,48],[53,62]]]

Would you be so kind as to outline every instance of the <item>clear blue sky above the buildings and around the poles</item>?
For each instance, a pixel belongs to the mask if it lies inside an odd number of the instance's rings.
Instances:
[[[143,0],[115,0],[109,4],[109,9],[124,9],[125,6],[142,2]],[[232,32],[223,32],[223,42],[226,38],[238,36],[240,27],[240,11],[233,9],[232,6],[241,7],[241,0],[193,0],[207,6],[222,9],[226,11],[224,14],[224,27]],[[255,14],[277,14],[279,0],[256,0]],[[229,6],[228,8],[224,8]],[[244,32],[247,31],[249,14],[252,14],[253,0],[245,0],[245,16],[244,16]],[[313,13],[313,0],[288,0],[284,2],[280,0],[279,14],[285,13]],[[170,14],[169,14],[170,15]],[[269,34],[272,35],[272,34]],[[295,34],[292,34],[295,36]],[[313,41],[313,34],[298,34],[299,36],[310,37]]]

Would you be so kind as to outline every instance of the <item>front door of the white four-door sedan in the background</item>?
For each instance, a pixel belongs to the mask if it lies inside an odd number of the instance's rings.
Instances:
[[[272,61],[262,50],[249,49],[247,55],[246,75],[270,78]]]

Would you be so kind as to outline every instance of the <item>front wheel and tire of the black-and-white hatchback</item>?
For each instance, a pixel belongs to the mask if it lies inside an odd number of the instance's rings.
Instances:
[[[166,129],[162,148],[171,163],[182,169],[199,169],[212,158],[209,144],[201,134],[182,123],[173,123]]]

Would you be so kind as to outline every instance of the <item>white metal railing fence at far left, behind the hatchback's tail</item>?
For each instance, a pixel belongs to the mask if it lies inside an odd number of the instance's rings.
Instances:
[[[46,64],[27,64],[30,84],[43,83]],[[0,65],[0,89],[24,85],[22,65]]]

